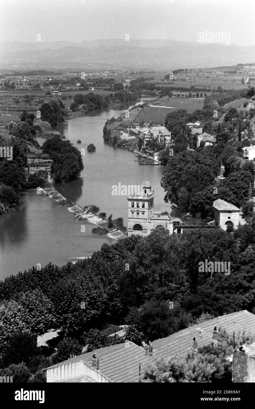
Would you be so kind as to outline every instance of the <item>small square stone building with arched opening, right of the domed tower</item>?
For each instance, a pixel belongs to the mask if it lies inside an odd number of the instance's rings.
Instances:
[[[223,230],[226,230],[228,225],[232,225],[234,229],[238,227],[240,213],[238,207],[218,199],[213,202],[213,208],[215,227],[221,227]]]

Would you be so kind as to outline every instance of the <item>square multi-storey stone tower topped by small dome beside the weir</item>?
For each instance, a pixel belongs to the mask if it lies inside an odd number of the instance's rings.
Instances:
[[[146,179],[142,192],[128,196],[128,236],[140,234],[148,236],[151,232],[150,219],[153,216],[154,191]]]

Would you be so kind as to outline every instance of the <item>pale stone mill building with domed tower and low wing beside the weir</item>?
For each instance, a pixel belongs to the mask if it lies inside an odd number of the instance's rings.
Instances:
[[[169,230],[169,234],[181,234],[181,219],[169,214],[156,213],[154,208],[154,191],[151,183],[146,179],[142,185],[141,194],[128,196],[128,236],[139,234],[149,236],[157,229]]]

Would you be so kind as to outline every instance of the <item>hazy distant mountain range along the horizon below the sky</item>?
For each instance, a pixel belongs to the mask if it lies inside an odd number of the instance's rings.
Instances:
[[[2,42],[0,68],[166,70],[255,62],[255,46],[174,40]]]

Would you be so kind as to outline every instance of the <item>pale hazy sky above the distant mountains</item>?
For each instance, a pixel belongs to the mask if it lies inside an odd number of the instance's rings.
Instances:
[[[0,0],[0,41],[198,41],[208,30],[255,45],[254,21],[255,0]]]

